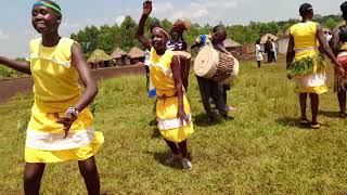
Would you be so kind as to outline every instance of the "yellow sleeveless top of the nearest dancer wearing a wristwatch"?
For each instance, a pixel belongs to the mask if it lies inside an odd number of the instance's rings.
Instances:
[[[61,38],[55,47],[43,47],[42,39],[30,41],[30,70],[35,106],[44,113],[65,112],[81,95],[79,75],[72,64],[74,40]]]

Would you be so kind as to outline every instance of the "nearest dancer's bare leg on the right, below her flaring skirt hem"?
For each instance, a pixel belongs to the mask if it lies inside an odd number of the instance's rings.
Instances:
[[[78,161],[79,172],[83,177],[89,195],[100,195],[100,179],[94,156]]]

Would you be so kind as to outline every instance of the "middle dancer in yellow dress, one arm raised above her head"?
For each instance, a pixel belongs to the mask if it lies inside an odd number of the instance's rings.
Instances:
[[[169,36],[162,27],[156,26],[151,29],[151,41],[143,36],[145,21],[151,12],[152,2],[145,1],[137,36],[143,46],[151,50],[150,76],[156,88],[158,129],[171,150],[171,156],[166,162],[171,164],[175,160],[180,160],[183,169],[191,169],[187,139],[194,130],[190,106],[182,86],[179,57],[166,49]]]

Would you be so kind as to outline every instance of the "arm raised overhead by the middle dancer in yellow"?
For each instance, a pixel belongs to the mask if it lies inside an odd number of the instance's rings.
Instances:
[[[147,50],[151,50],[151,41],[144,37],[144,26],[151,12],[152,12],[152,1],[144,1],[143,12],[142,12],[138,30],[137,30],[137,38],[142,43],[142,46]]]

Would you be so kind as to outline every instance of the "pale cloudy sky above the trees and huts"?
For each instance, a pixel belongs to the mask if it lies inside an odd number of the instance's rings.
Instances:
[[[34,0],[3,0],[0,12],[0,55],[28,56],[28,42],[39,35],[30,23]],[[139,0],[56,0],[63,11],[60,28],[69,37],[87,25],[121,23],[126,15],[139,20]],[[190,18],[194,23],[215,25],[298,18],[298,6],[309,2],[314,14],[339,14],[340,0],[153,0],[153,16]]]

